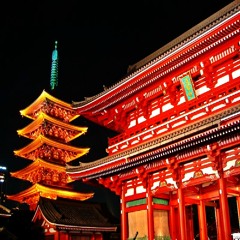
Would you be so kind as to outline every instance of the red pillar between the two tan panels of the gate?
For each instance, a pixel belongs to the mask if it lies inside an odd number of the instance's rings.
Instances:
[[[154,240],[154,221],[153,221],[153,197],[151,192],[150,177],[147,179],[147,215],[148,215],[148,239]]]

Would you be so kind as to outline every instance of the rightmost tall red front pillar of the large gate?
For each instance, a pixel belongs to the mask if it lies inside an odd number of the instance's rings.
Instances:
[[[219,207],[221,209],[222,214],[221,216],[223,228],[222,238],[224,240],[232,240],[226,183],[222,171],[218,182],[219,182]]]

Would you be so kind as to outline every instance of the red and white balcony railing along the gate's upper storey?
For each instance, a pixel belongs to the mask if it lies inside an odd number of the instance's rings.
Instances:
[[[160,106],[160,114],[127,129],[108,140],[109,155],[115,154],[122,149],[126,150],[132,146],[154,138],[166,132],[174,131],[189,123],[200,121],[208,115],[214,115],[240,103],[240,61],[232,62],[232,65],[215,71],[214,78],[222,77],[228,80],[212,90],[197,96],[196,99],[183,102],[163,112],[162,109],[168,103],[169,98]],[[233,78],[233,73],[235,73]],[[202,79],[205,82],[204,78]],[[196,84],[204,87],[203,83]],[[198,89],[196,89],[197,91]]]

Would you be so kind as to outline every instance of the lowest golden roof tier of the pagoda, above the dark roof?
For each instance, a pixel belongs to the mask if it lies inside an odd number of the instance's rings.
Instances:
[[[7,199],[26,203],[30,209],[35,209],[40,197],[56,200],[57,198],[74,199],[78,201],[85,201],[94,196],[94,193],[80,193],[77,191],[66,190],[62,188],[54,188],[41,184],[34,184],[30,188],[25,189],[14,195],[7,195]]]

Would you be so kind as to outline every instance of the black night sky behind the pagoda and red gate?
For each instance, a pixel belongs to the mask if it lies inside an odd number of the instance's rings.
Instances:
[[[68,103],[98,94],[104,85],[120,81],[129,65],[231,2],[6,1],[0,8],[0,164],[11,172],[29,163],[13,154],[29,143],[17,135],[18,129],[30,123],[19,111],[44,89]],[[59,85],[52,91],[51,55],[56,40]],[[81,117],[72,123],[88,127],[87,134],[74,142],[91,148],[81,161],[107,155],[105,148],[111,132]],[[16,180],[10,180],[8,191],[23,188],[19,181],[16,184]]]

